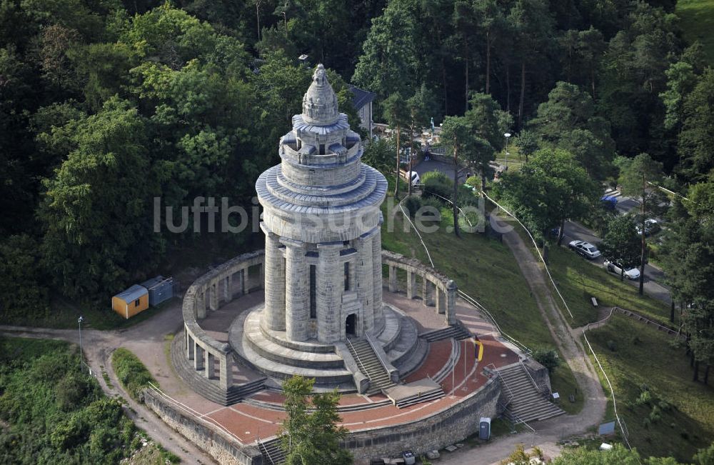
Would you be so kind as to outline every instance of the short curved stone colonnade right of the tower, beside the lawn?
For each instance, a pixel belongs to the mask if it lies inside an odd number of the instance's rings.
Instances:
[[[382,251],[382,264],[389,267],[389,291],[398,291],[397,269],[406,271],[406,296],[413,299],[420,296],[426,306],[436,306],[438,314],[443,314],[446,324],[456,324],[456,297],[458,287],[445,275],[426,266],[417,259]],[[417,277],[421,279],[421,293],[418,291]]]

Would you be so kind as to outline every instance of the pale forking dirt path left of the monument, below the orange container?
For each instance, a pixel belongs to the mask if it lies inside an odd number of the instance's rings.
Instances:
[[[166,334],[174,334],[181,325],[181,311],[176,304],[153,316],[151,319],[142,321],[140,324],[120,331],[98,331],[96,329],[82,330],[82,349],[86,361],[91,366],[96,379],[99,381],[101,389],[107,396],[119,395],[126,400],[126,414],[134,421],[137,427],[146,431],[151,439],[157,444],[164,446],[164,449],[176,454],[181,459],[182,464],[213,464],[216,463],[210,456],[201,449],[194,446],[191,441],[186,440],[176,433],[171,427],[164,423],[154,412],[131,399],[131,396],[124,390],[116,378],[114,370],[111,369],[111,353],[114,349],[124,346],[131,351],[141,350],[146,341],[164,340]],[[14,337],[28,337],[36,339],[59,339],[79,344],[79,331],[76,329],[45,329],[31,328],[24,326],[0,326],[0,334]],[[157,354],[164,357],[164,353]],[[101,367],[109,375],[112,386],[108,386],[101,376]],[[152,373],[156,373],[151,370]]]

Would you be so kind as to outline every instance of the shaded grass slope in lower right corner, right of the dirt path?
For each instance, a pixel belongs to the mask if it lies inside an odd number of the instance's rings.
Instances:
[[[588,339],[613,383],[630,443],[643,456],[690,461],[698,448],[711,443],[714,386],[691,381],[689,359],[683,348],[670,346],[672,338],[615,315],[589,331]]]

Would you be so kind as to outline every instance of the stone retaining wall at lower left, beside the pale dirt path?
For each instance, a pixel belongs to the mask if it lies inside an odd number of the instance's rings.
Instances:
[[[216,426],[208,426],[180,407],[164,399],[161,394],[152,389],[142,392],[144,403],[164,423],[181,434],[193,444],[196,444],[206,454],[216,459],[222,465],[263,465],[263,456],[253,446],[238,447],[238,441]]]

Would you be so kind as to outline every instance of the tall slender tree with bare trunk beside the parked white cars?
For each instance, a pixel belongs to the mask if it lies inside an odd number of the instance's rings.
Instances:
[[[645,286],[645,263],[647,262],[647,242],[645,236],[645,220],[659,211],[661,195],[659,189],[652,189],[651,184],[657,184],[662,178],[662,164],[654,161],[648,154],[639,154],[633,159],[620,157],[616,164],[620,169],[620,191],[624,195],[640,199],[640,213],[637,221],[640,224],[640,295]]]

